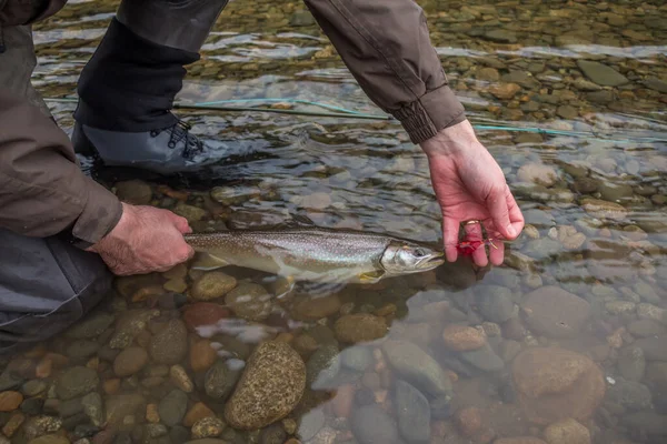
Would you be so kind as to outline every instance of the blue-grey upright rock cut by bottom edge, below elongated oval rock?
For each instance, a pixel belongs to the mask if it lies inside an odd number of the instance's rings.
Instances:
[[[395,383],[398,431],[409,443],[430,440],[430,406],[426,396],[405,381]]]

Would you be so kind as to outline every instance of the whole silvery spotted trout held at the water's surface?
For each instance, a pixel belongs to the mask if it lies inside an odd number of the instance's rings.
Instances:
[[[290,281],[375,283],[445,262],[442,252],[407,239],[316,226],[232,230],[185,239],[217,266],[243,266]]]

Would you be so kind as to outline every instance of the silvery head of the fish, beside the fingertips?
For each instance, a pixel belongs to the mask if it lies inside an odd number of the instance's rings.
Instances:
[[[389,275],[421,273],[444,263],[444,252],[409,241],[391,241],[380,259]]]

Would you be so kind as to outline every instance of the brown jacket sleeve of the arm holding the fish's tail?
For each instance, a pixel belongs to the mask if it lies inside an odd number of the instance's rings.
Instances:
[[[0,228],[37,238],[71,229],[96,243],[121,214],[116,195],[79,169],[67,134],[0,88]]]

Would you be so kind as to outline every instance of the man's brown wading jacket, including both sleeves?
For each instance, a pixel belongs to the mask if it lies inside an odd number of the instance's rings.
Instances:
[[[366,94],[414,143],[465,120],[415,0],[303,1]],[[66,2],[0,0],[0,47],[2,27],[42,20]],[[74,236],[94,243],[121,211],[79,170],[67,135],[0,85],[0,228],[48,236],[73,226]]]

